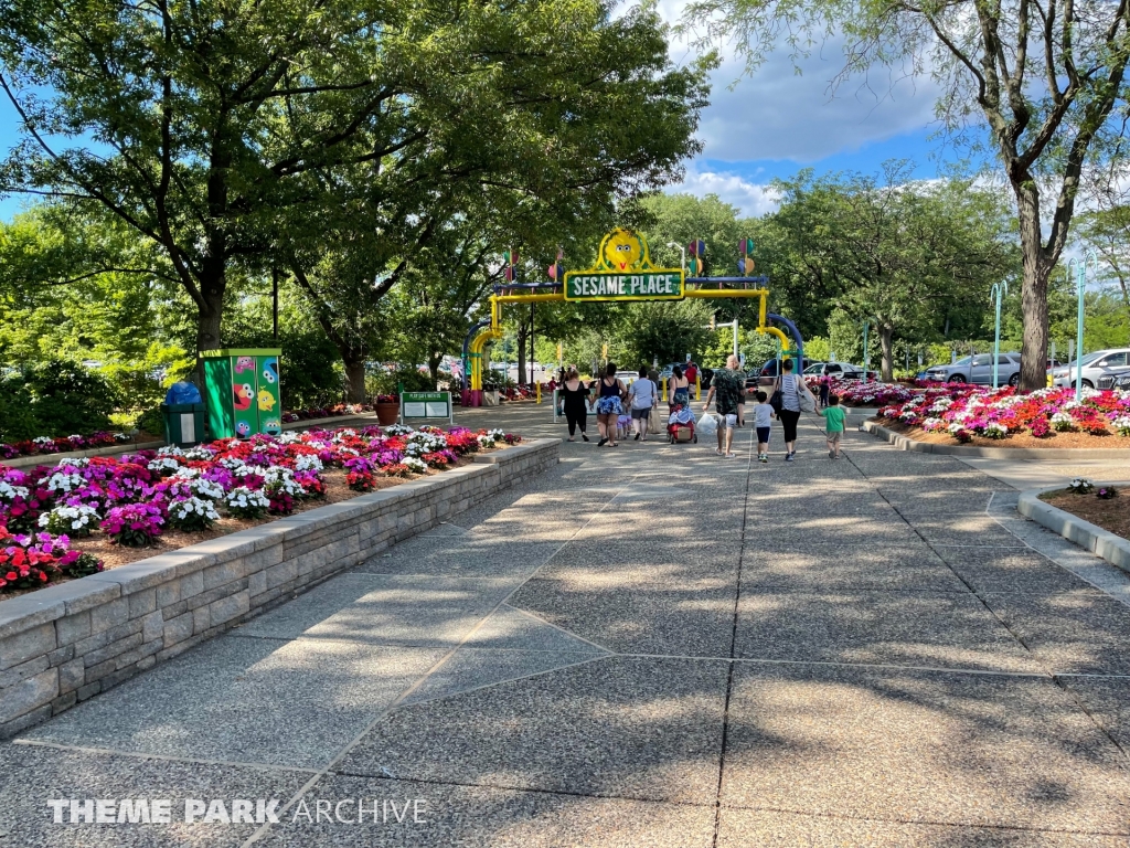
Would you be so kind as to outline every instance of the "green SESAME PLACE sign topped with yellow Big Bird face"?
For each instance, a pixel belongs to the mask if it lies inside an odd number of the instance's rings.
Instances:
[[[681,268],[657,268],[647,242],[629,230],[614,230],[600,242],[597,263],[565,274],[567,301],[678,301],[683,298]]]

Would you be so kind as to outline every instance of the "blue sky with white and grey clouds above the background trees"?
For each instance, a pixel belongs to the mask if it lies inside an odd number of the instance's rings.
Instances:
[[[667,0],[668,18],[681,2]],[[671,57],[686,61],[685,45],[672,43]],[[688,162],[681,183],[669,191],[713,192],[745,215],[774,208],[768,183],[803,167],[818,173],[872,173],[887,159],[912,159],[915,176],[939,175],[956,153],[932,136],[937,88],[929,79],[892,81],[885,71],[868,80],[850,80],[829,92],[828,80],[840,69],[838,52],[826,47],[793,71],[783,52],[771,54],[756,73],[740,76],[740,64],[725,59],[713,75],[711,105],[702,114],[698,136],[703,154]],[[17,119],[0,101],[0,148],[16,141]],[[23,201],[0,199],[0,217],[10,218]]]

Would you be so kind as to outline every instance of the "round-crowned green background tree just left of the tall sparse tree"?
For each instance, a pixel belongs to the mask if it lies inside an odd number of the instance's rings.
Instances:
[[[916,184],[906,173],[902,163],[881,178],[805,172],[777,183],[784,201],[773,216],[794,272],[844,317],[871,320],[885,380],[896,335],[929,340],[939,317],[985,308],[991,284],[1016,271],[1008,217],[990,192]]]

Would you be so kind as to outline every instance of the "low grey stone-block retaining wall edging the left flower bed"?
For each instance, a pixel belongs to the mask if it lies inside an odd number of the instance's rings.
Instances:
[[[557,464],[559,439],[0,603],[0,738]]]

